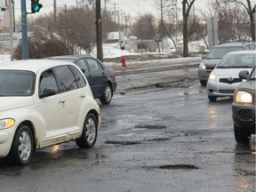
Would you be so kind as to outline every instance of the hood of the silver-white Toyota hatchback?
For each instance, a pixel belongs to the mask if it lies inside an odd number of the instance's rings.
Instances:
[[[238,74],[242,70],[247,70],[250,73],[252,68],[215,68],[213,71],[219,78],[228,78],[229,76],[239,78]]]

